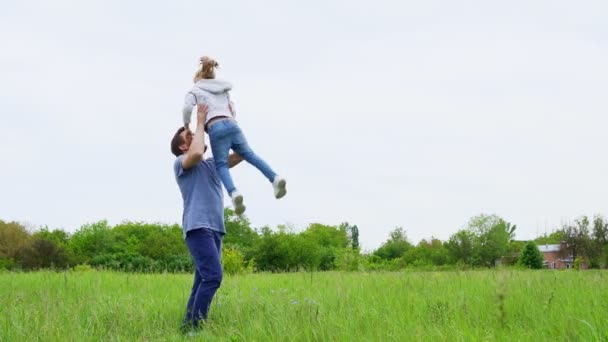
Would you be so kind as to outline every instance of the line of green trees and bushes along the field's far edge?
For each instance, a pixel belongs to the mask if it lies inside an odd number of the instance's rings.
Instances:
[[[245,216],[225,209],[227,234],[222,263],[228,273],[300,270],[462,269],[520,265],[541,268],[537,244],[564,243],[575,259],[591,268],[608,265],[608,221],[582,216],[534,241],[515,240],[517,227],[497,215],[478,215],[447,241],[410,243],[394,228],[376,250],[362,252],[356,225],[310,224],[296,232],[280,225],[254,228]],[[133,272],[192,272],[193,264],[179,225],[107,221],[86,224],[74,233],[44,227],[29,231],[0,220],[0,269],[102,268]]]

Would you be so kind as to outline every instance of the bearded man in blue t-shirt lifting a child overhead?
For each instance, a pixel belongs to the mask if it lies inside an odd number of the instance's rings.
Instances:
[[[194,284],[188,299],[182,329],[197,328],[207,319],[211,300],[222,282],[222,237],[224,201],[213,159],[203,160],[207,106],[198,105],[194,134],[181,127],[171,140],[171,152],[177,157],[173,165],[175,179],[184,200],[182,228],[188,250],[194,260]],[[230,167],[242,158],[231,154]]]

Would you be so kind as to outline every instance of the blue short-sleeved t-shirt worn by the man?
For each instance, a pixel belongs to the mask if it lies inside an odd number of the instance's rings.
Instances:
[[[184,155],[175,159],[173,170],[184,200],[182,228],[184,237],[193,229],[208,228],[222,234],[224,228],[224,193],[213,159],[201,160],[188,170],[182,167]]]

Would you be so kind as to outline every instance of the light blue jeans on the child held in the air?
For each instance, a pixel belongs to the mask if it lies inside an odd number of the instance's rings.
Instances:
[[[249,164],[260,170],[270,182],[274,180],[276,173],[249,147],[245,135],[243,135],[241,128],[235,120],[220,120],[211,125],[209,127],[209,140],[211,140],[211,151],[213,152],[215,167],[229,195],[232,195],[232,192],[236,190],[230,176],[230,171],[228,170],[228,153],[231,148],[234,152],[240,154]]]

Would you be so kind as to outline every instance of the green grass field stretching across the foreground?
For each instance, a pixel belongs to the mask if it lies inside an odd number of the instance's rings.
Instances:
[[[226,276],[197,336],[190,275],[0,273],[0,341],[608,340],[608,273]]]

